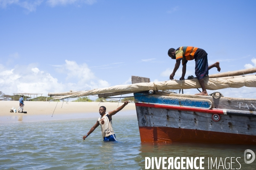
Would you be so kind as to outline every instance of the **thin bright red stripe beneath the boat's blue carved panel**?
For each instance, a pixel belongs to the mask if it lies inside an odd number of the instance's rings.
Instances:
[[[211,113],[211,114],[224,114],[223,111],[221,110],[185,108],[185,107],[166,106],[166,105],[152,105],[152,104],[146,104],[146,103],[135,103],[135,105],[140,107],[161,108],[161,109],[170,109],[170,110],[177,110],[177,111],[195,111],[195,112],[203,112],[203,113]]]

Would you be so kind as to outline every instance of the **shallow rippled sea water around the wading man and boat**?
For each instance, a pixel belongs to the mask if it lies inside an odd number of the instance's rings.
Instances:
[[[96,120],[1,122],[0,169],[140,170],[145,169],[145,157],[163,156],[205,157],[204,169],[208,169],[208,157],[217,157],[218,164],[220,158],[224,163],[226,157],[240,157],[241,170],[256,169],[256,160],[251,164],[244,163],[244,150],[256,153],[256,146],[253,145],[141,143],[136,115],[120,116],[119,113],[119,116],[113,116],[113,129],[118,142],[103,142],[100,127],[82,140]],[[230,159],[227,162],[230,163]],[[239,169],[236,159],[232,162],[235,162],[232,168]],[[218,169],[224,168],[220,166]]]

